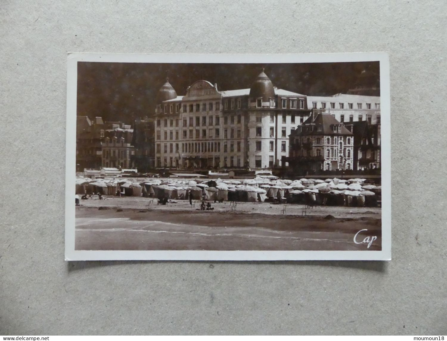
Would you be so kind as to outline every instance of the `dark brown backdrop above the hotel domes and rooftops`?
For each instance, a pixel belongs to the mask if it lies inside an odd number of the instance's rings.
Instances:
[[[181,96],[197,80],[218,90],[249,88],[265,67],[273,85],[299,94],[325,96],[357,85],[379,88],[379,62],[312,64],[156,64],[78,62],[77,115],[132,124],[152,116],[157,91],[169,82]],[[366,71],[366,72],[363,72]],[[362,73],[363,72],[363,73]],[[367,77],[365,77],[367,75]],[[380,95],[379,93],[377,95]]]

